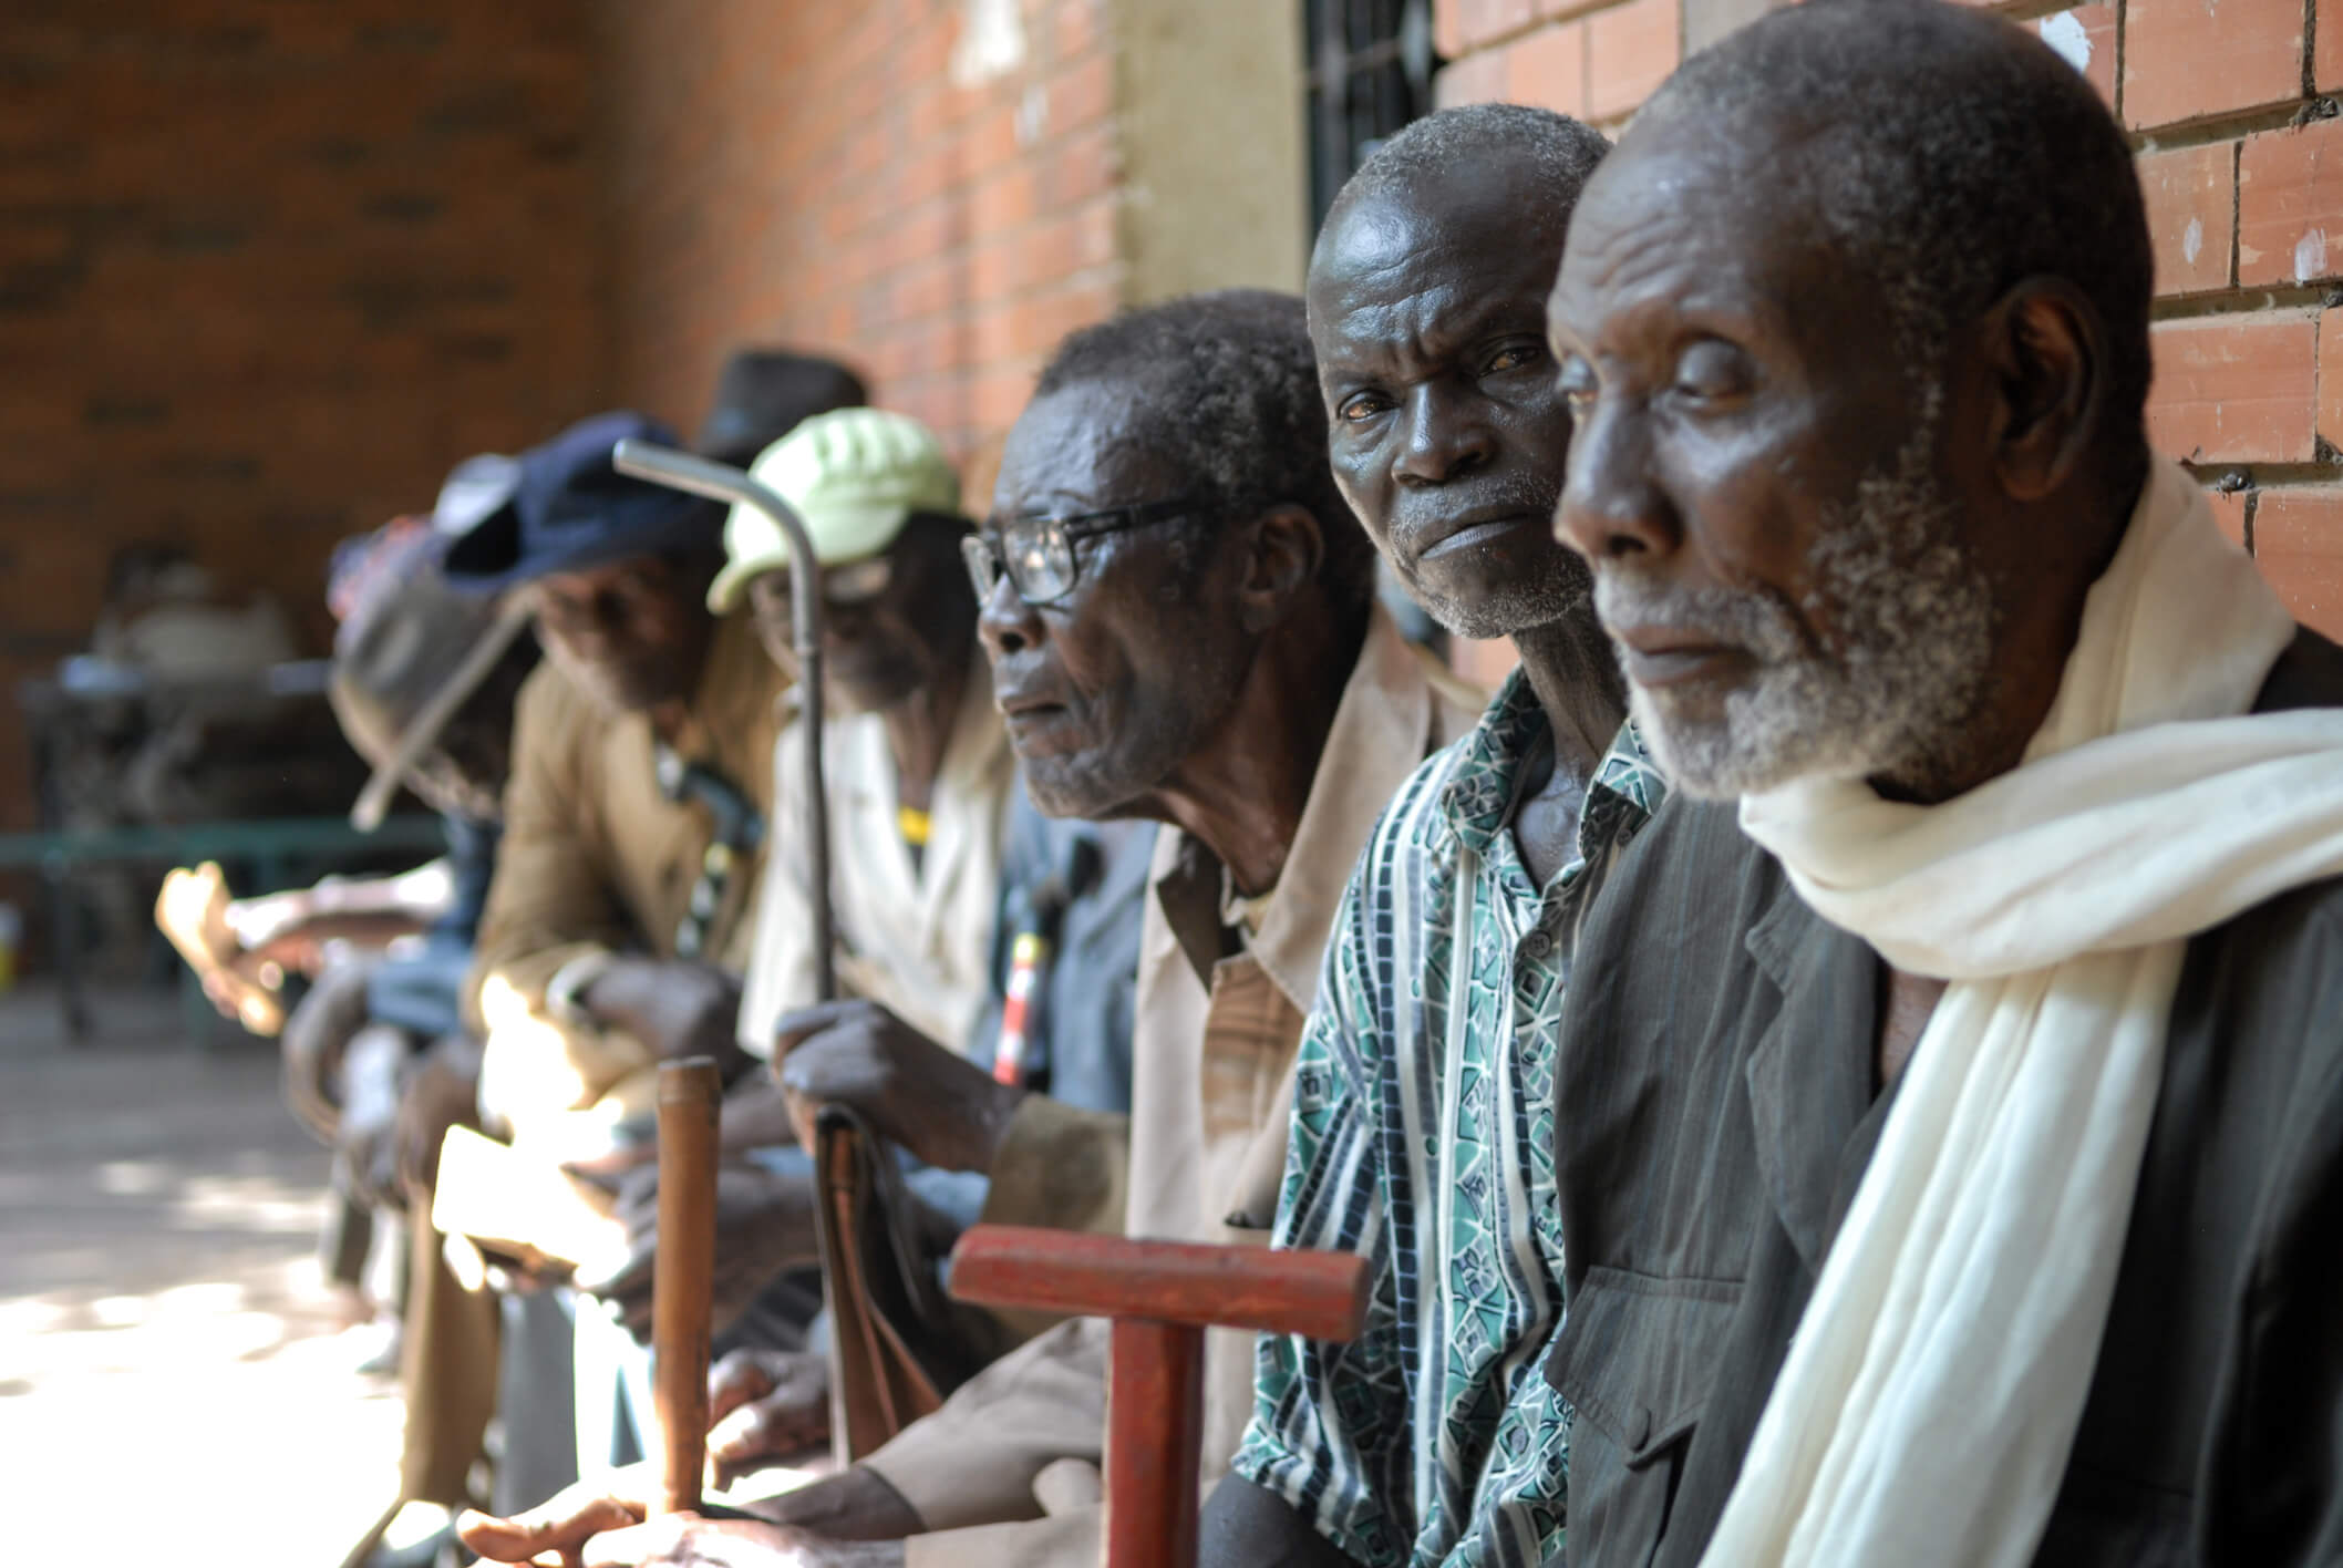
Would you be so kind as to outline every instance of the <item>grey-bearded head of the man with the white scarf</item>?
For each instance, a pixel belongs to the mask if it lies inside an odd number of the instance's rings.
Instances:
[[[2149,288],[2123,134],[2027,30],[1811,0],[1668,80],[1551,330],[1558,525],[1680,790],[2015,762],[2146,476]]]

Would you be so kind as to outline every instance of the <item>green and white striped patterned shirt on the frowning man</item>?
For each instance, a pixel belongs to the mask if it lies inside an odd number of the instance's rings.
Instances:
[[[1361,1252],[1366,1331],[1261,1338],[1237,1474],[1368,1568],[1560,1552],[1567,1409],[1553,1024],[1596,886],[1659,806],[1635,727],[1589,780],[1577,855],[1539,888],[1511,823],[1549,738],[1516,670],[1375,825],[1303,1034],[1279,1247]]]

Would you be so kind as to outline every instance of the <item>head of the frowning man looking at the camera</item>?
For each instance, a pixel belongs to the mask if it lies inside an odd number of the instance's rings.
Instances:
[[[1577,120],[1418,120],[1343,188],[1310,258],[1336,483],[1425,609],[1474,638],[1593,626],[1549,520],[1570,448],[1544,295],[1586,173]]]

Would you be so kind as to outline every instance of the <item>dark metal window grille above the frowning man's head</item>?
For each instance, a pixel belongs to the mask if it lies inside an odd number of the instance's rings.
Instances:
[[[1432,0],[1303,0],[1310,227],[1385,136],[1432,113]]]

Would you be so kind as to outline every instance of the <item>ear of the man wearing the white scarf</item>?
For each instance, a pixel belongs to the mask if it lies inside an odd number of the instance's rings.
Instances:
[[[2099,431],[2106,333],[2083,291],[2029,277],[1985,312],[1994,377],[1992,450],[2006,495],[2038,502],[2062,490]]]

